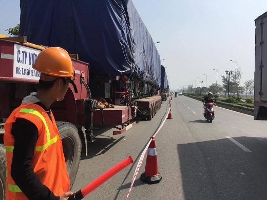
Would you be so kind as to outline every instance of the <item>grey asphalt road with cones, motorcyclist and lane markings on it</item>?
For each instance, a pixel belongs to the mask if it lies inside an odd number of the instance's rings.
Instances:
[[[89,143],[71,191],[131,155],[135,163],[84,198],[125,199],[140,155],[167,111],[165,101],[151,121],[140,120],[121,135],[107,127]],[[162,181],[141,181],[144,159],[128,199],[267,199],[267,122],[215,107],[216,118],[207,123],[202,103],[185,96],[173,97],[171,111],[174,119],[167,119],[155,137]]]

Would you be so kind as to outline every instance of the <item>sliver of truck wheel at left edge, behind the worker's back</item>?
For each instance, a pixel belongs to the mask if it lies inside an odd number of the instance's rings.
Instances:
[[[0,199],[6,199],[6,148],[0,144]]]

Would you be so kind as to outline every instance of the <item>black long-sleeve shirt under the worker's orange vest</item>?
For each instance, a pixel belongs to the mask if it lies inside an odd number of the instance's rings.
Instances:
[[[47,109],[41,102],[35,104],[44,108],[51,118],[50,109]],[[20,187],[29,200],[60,199],[59,196],[55,196],[48,187],[41,183],[31,166],[34,147],[39,136],[37,127],[27,119],[16,118],[16,121],[12,124],[11,134],[15,139],[11,176],[16,185]]]

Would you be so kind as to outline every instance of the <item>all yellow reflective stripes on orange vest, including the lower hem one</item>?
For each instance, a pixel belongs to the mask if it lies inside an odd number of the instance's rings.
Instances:
[[[47,143],[45,145],[43,145],[43,146],[36,146],[35,149],[34,149],[35,151],[44,151],[47,147],[49,147],[50,145],[52,145],[52,144],[56,143],[56,141],[58,141],[58,139],[59,139],[58,135],[56,135],[54,138],[50,139],[50,132],[49,132],[47,123],[45,121],[44,116],[40,112],[38,112],[36,110],[33,110],[33,109],[28,109],[28,108],[22,108],[20,110],[20,112],[21,113],[30,113],[30,114],[34,114],[34,115],[40,117],[42,122],[45,125]],[[14,150],[14,146],[6,146],[6,151],[7,152],[13,152],[13,150]],[[8,173],[8,172],[6,171],[6,173]],[[11,192],[22,192],[21,189],[17,185],[11,185],[11,184],[7,183],[7,186],[8,186],[8,189]]]

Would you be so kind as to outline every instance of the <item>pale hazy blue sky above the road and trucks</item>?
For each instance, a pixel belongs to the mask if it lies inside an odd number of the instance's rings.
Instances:
[[[132,0],[167,67],[171,89],[218,84],[226,70],[243,72],[241,85],[254,78],[255,22],[266,0]],[[20,1],[0,0],[0,33],[20,23]],[[196,80],[196,82],[194,81]]]

